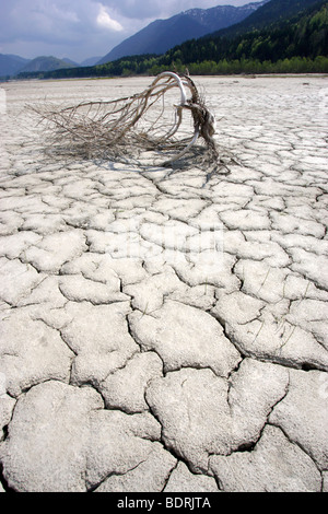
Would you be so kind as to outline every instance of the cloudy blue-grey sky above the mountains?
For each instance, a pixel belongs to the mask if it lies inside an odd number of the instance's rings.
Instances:
[[[155,19],[191,8],[244,5],[249,1],[0,0],[0,54],[28,59],[52,55],[81,62],[103,57]]]

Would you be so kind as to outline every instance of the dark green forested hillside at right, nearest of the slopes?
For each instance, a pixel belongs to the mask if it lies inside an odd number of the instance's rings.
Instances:
[[[245,72],[327,71],[328,2],[316,5],[303,15],[233,39],[207,37],[186,42],[162,56],[159,65],[181,62],[191,72],[191,65],[206,63],[204,68],[212,68],[213,73],[231,67],[242,67]]]

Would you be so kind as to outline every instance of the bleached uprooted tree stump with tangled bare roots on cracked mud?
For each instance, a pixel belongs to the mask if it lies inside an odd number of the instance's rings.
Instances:
[[[174,104],[174,116],[167,107],[172,93],[179,91],[179,103]],[[187,96],[187,92],[189,97]],[[159,108],[159,104],[161,104]],[[156,106],[156,108],[152,108]],[[142,165],[149,153],[160,156],[155,165],[176,167],[177,161],[194,151],[192,166],[210,170],[207,180],[215,173],[229,173],[213,139],[215,118],[189,74],[172,71],[160,73],[141,93],[107,102],[81,102],[74,106],[31,106],[40,121],[46,122],[48,151],[82,159],[106,159]],[[191,115],[194,135],[177,139],[177,132],[186,131],[184,113]],[[189,117],[190,118],[190,117]],[[190,129],[190,119],[188,130]],[[201,140],[203,147],[196,147]],[[169,159],[162,161],[162,155]],[[195,155],[196,159],[195,160]],[[198,162],[197,162],[198,161]],[[236,162],[231,159],[231,162]],[[149,159],[147,161],[149,165]],[[188,163],[190,166],[190,162]],[[173,168],[171,173],[174,173]]]

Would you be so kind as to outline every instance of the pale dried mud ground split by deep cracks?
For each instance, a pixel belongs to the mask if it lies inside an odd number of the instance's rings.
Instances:
[[[45,155],[2,84],[0,490],[328,491],[328,84],[203,78],[214,175]]]

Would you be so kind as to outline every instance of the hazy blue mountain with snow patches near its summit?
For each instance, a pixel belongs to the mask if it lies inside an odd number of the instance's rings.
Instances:
[[[238,8],[218,5],[211,9],[190,9],[167,20],[155,20],[113,48],[97,65],[132,55],[164,54],[187,39],[241,22],[268,1],[251,2]]]

